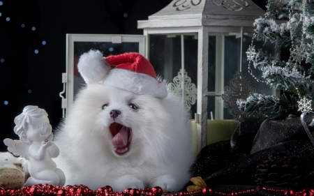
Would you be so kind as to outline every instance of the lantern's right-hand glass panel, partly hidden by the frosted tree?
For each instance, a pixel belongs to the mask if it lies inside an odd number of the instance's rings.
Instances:
[[[247,34],[247,33],[246,33]],[[227,86],[232,85],[232,80],[237,79],[240,70],[251,81],[251,85],[255,86],[257,91],[267,95],[273,95],[275,90],[263,82],[257,82],[248,73],[248,61],[246,51],[251,45],[252,37],[243,36],[242,43],[242,68],[240,68],[241,56],[241,34],[240,33],[209,33],[209,63],[208,63],[208,93],[214,98],[208,99],[207,117],[211,119],[211,112],[214,119],[235,119],[227,103],[221,98]],[[262,48],[271,55],[276,55],[274,45],[271,43],[262,43],[255,41],[253,43],[256,49]],[[253,63],[251,63],[253,64]],[[254,75],[258,78],[262,77],[260,70],[255,70],[251,65]],[[213,103],[214,102],[214,103]]]

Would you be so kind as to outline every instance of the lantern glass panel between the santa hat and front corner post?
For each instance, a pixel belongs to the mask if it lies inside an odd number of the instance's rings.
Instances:
[[[190,77],[190,84],[197,86],[197,39],[193,33],[149,35],[149,61],[154,66],[156,74],[167,82],[175,84],[174,77],[183,73],[182,70],[186,70],[187,77]],[[178,96],[188,102],[189,87],[182,85],[179,87]],[[196,102],[189,105],[190,113],[196,113]],[[193,118],[192,115],[190,117]]]

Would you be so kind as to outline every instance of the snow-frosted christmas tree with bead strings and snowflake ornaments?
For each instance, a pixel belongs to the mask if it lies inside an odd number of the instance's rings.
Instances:
[[[274,20],[275,19],[275,20]],[[237,100],[239,109],[269,117],[299,116],[312,110],[314,97],[314,1],[269,0],[266,17],[255,20],[255,40],[274,43],[277,56],[255,51],[254,41],[246,54],[254,68],[262,71],[259,82],[281,90],[281,96],[251,93],[246,100]],[[287,50],[288,49],[288,50]],[[280,52],[290,58],[281,61]],[[252,70],[249,72],[253,75]],[[258,91],[258,89],[257,89]]]

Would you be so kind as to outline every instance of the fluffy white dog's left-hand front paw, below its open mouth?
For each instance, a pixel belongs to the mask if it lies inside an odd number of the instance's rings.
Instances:
[[[143,189],[144,183],[133,175],[125,175],[115,180],[112,188],[117,191],[124,191],[126,188]]]

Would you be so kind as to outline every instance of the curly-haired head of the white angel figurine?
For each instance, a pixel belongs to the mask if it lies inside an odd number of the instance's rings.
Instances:
[[[14,123],[16,125],[14,132],[24,143],[52,140],[52,126],[49,123],[48,114],[38,106],[24,107],[22,114],[15,117]]]

